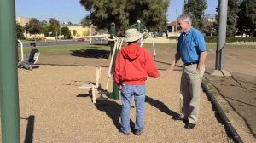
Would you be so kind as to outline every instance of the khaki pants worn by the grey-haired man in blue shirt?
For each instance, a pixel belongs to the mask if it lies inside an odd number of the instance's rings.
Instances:
[[[200,107],[201,78],[205,72],[197,70],[197,64],[184,66],[180,84],[180,112],[181,118],[189,123],[197,123]]]

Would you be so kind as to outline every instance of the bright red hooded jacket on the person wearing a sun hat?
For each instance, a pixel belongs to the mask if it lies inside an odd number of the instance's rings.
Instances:
[[[120,49],[115,60],[113,80],[118,85],[143,85],[149,77],[160,77],[152,55],[138,43]]]

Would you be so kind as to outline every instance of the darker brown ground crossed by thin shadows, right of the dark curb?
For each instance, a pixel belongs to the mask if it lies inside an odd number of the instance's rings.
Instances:
[[[214,77],[207,72],[205,77],[218,92],[215,93],[218,101],[235,129],[246,130],[256,140],[256,77],[237,72],[231,74],[232,77]],[[242,132],[238,134],[246,135]]]

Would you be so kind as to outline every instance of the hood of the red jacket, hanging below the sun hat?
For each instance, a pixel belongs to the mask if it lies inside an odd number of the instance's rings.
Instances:
[[[121,53],[126,59],[135,60],[140,54],[140,45],[138,43],[130,43],[124,49],[122,49]]]

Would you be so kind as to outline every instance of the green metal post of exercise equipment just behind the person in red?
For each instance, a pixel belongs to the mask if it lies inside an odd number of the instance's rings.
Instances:
[[[116,29],[115,29],[115,24],[112,23],[111,24],[111,28],[109,31],[111,36],[116,37]],[[116,49],[115,51],[113,51],[113,46],[114,46],[114,42],[110,42],[110,52],[111,52],[111,56],[113,56],[113,64],[112,64],[112,73],[114,70],[114,63],[115,63],[115,59],[116,59],[116,54],[118,53],[118,50]],[[113,82],[113,92],[110,94],[110,98],[114,99],[114,100],[119,100],[120,95],[119,95],[119,86]]]

